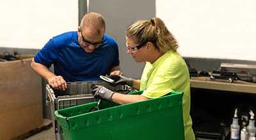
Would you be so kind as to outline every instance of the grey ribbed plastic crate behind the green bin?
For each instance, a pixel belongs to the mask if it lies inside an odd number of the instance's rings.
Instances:
[[[54,111],[97,101],[92,94],[92,84],[104,85],[104,87],[109,88],[109,90],[121,92],[123,94],[133,91],[132,88],[127,85],[117,85],[116,87],[113,87],[104,81],[70,82],[67,83],[68,88],[64,92],[54,90],[49,84],[46,85],[47,100],[51,102],[52,125],[54,127],[56,139],[62,139],[62,137],[61,128],[56,121]]]

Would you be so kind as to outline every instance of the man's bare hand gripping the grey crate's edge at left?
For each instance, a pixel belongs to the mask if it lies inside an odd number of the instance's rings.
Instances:
[[[52,76],[47,81],[52,88],[63,91],[67,89],[67,83],[62,76]]]

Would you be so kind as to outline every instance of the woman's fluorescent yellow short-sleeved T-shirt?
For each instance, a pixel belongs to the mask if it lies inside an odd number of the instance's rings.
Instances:
[[[184,92],[182,111],[186,140],[194,140],[190,111],[190,81],[186,63],[177,52],[166,52],[154,64],[146,62],[141,76],[140,90],[143,96],[155,99],[172,91]]]

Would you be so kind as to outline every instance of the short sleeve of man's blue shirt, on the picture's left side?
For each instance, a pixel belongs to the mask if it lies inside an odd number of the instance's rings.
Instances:
[[[35,62],[43,64],[46,67],[51,67],[54,60],[58,58],[58,49],[54,45],[53,39],[50,39],[45,46],[34,57]]]

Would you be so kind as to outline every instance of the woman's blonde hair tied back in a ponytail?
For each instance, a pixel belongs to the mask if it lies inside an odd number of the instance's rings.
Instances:
[[[164,22],[157,17],[150,20],[139,20],[130,25],[126,30],[126,36],[136,39],[137,43],[150,41],[161,53],[166,53],[168,50],[176,51],[179,47],[173,34],[168,31]]]

